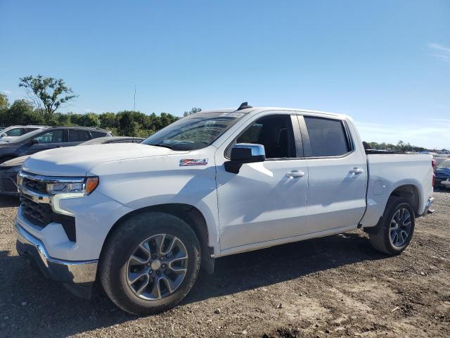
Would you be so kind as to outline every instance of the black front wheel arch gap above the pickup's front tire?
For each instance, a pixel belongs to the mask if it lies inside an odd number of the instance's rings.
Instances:
[[[203,268],[207,270],[208,273],[212,273],[214,270],[214,258],[211,257],[212,253],[214,253],[214,247],[210,244],[210,232],[207,227],[207,222],[203,213],[192,206],[190,204],[182,204],[182,203],[171,203],[171,204],[158,204],[154,206],[146,206],[143,208],[136,209],[131,211],[125,215],[122,215],[119,218],[113,227],[110,228],[108,234],[105,237],[105,241],[103,242],[103,246],[101,251],[105,247],[105,243],[110,238],[111,234],[120,227],[124,223],[124,221],[129,220],[134,215],[139,215],[141,213],[147,212],[160,212],[167,213],[169,215],[174,215],[181,220],[184,220],[189,227],[195,232],[195,235],[198,238],[198,242],[200,242],[200,249],[202,251],[202,262]]]

